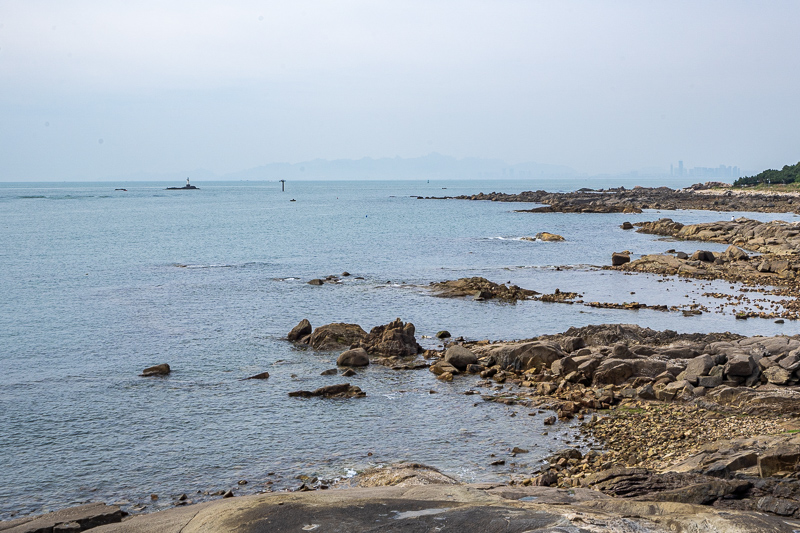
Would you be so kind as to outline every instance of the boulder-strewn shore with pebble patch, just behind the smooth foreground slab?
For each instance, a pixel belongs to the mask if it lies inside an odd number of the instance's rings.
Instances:
[[[439,379],[506,384],[489,401],[607,413],[581,431],[602,451],[554,454],[522,485],[800,517],[800,336],[678,334],[635,325],[571,328],[519,342],[451,345]],[[606,410],[606,411],[603,411]],[[531,413],[534,414],[534,413]],[[785,426],[789,423],[789,426]]]

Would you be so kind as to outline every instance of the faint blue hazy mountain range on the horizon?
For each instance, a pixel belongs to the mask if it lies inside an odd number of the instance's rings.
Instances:
[[[577,172],[562,165],[520,163],[509,165],[501,159],[455,157],[431,153],[422,157],[384,157],[373,159],[314,159],[302,163],[269,163],[255,168],[217,175],[206,170],[176,174],[136,174],[115,180],[164,181],[193,180],[383,180],[383,179],[491,179],[550,178],[575,176]]]

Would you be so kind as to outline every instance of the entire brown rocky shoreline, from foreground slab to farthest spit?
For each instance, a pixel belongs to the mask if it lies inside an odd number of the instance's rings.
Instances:
[[[532,212],[800,212],[796,194],[741,194],[702,186],[456,198],[545,204]],[[783,297],[777,301],[779,311],[761,306],[737,317],[800,318],[800,224],[737,219],[683,225],[661,219],[623,225],[634,227],[677,241],[729,247],[723,253],[671,251],[634,260],[629,251],[615,253],[612,266],[605,268],[772,287],[772,295]],[[312,281],[336,282],[330,276]],[[478,301],[535,299],[703,311],[584,302],[573,292],[543,295],[484,278],[429,288],[436,296]],[[502,484],[462,484],[424,465],[401,464],[362,472],[337,490],[302,479],[293,491],[236,498],[230,490],[220,491],[214,494],[217,500],[199,504],[184,495],[173,509],[133,517],[119,506],[96,503],[0,522],[0,531],[429,531],[443,525],[520,532],[800,529],[800,335],[678,334],[613,324],[522,341],[468,342],[443,330],[437,335],[442,348],[424,350],[415,334],[414,325],[399,318],[370,332],[346,323],[312,328],[303,320],[287,341],[302,349],[340,351],[337,368],[326,372],[343,377],[370,364],[426,369],[431,379],[452,384],[454,390],[466,387],[466,395],[481,401],[527,408],[533,420],[541,420],[544,435],[553,425],[578,421],[571,447],[536,466],[518,459],[528,450],[510,449],[491,463],[507,468],[509,481]],[[169,373],[164,364],[145,369],[142,376]],[[267,372],[252,376],[267,378]],[[348,382],[289,396],[326,402],[359,401],[367,394]]]

